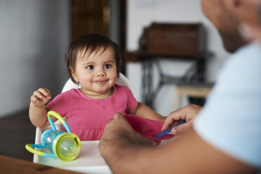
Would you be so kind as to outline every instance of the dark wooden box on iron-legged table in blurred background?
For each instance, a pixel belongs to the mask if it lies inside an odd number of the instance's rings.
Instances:
[[[204,81],[206,55],[206,32],[201,23],[152,23],[143,30],[138,51],[124,52],[126,62],[142,63],[142,103],[152,109],[163,85],[175,85],[183,79],[193,83]],[[163,73],[159,65],[162,58],[195,63],[183,76],[172,76]],[[156,89],[153,87],[154,65],[159,70]]]

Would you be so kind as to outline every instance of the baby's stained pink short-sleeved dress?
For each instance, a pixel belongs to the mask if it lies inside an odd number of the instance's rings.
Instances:
[[[100,140],[102,132],[116,112],[126,114],[126,109],[138,105],[133,93],[126,86],[114,85],[114,93],[105,99],[93,99],[79,89],[60,93],[48,107],[67,118],[72,133],[81,140]]]

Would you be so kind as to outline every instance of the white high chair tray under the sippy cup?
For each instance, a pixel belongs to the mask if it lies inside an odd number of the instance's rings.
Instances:
[[[81,152],[76,159],[69,162],[60,159],[38,156],[34,154],[34,163],[41,163],[47,166],[74,170],[81,173],[112,173],[105,160],[100,155],[98,144],[100,141],[82,141]],[[46,149],[40,149],[45,152]]]

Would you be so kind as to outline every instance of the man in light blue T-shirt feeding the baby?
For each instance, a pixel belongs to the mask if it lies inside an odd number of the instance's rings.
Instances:
[[[241,17],[248,16],[246,21],[257,17],[255,8],[249,11],[245,3],[201,0],[227,51],[244,44],[236,32]],[[149,147],[152,142],[116,114],[100,140],[102,156],[114,173],[254,173],[261,168],[261,83],[256,74],[261,74],[261,46],[250,44],[229,58],[203,109],[189,105],[168,116],[165,128],[186,119],[175,130],[187,129],[182,136]]]

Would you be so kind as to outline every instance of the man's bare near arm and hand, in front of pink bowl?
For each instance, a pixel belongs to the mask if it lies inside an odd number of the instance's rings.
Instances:
[[[246,163],[220,152],[193,128],[164,145],[152,147],[121,114],[109,121],[100,152],[113,173],[254,173]]]

